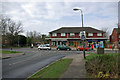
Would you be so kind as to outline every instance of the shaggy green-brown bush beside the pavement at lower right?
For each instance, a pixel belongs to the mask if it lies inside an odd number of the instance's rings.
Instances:
[[[117,78],[118,75],[118,53],[96,54],[90,53],[86,56],[86,71],[88,77]],[[100,76],[102,75],[102,76]]]

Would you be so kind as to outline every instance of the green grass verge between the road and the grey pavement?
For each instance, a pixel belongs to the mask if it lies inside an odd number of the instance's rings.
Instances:
[[[47,78],[59,78],[68,68],[69,64],[72,62],[72,59],[60,59],[53,64],[50,64],[48,67],[38,71],[28,78],[34,79],[47,79]],[[40,79],[41,80],[41,79]]]

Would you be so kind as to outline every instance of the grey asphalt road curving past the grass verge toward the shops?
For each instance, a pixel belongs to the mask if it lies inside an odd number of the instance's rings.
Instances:
[[[25,55],[2,60],[3,78],[27,78],[46,65],[66,56],[82,53],[80,51],[18,49]]]

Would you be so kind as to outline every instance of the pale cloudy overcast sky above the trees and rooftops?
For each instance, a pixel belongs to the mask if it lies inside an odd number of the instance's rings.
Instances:
[[[118,2],[3,2],[2,14],[14,21],[22,21],[26,31],[48,34],[61,26],[81,26],[80,12],[83,10],[84,26],[110,31],[117,27]]]

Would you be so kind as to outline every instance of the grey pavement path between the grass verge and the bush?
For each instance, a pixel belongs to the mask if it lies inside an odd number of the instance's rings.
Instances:
[[[64,78],[86,78],[83,54],[68,55],[64,57],[64,59],[65,58],[72,58],[73,61],[69,65],[67,71],[60,77],[60,80]]]

